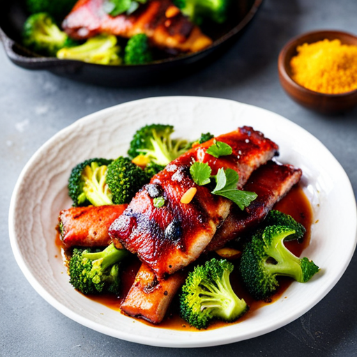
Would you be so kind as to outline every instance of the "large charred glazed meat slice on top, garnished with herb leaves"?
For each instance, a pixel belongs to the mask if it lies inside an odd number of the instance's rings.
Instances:
[[[192,162],[207,162],[212,174],[220,167],[234,169],[239,175],[238,188],[242,188],[250,174],[278,151],[274,142],[250,127],[238,128],[216,139],[229,144],[232,154],[214,158],[206,153],[212,139],[181,155],[137,192],[123,215],[109,228],[114,243],[137,254],[159,278],[195,261],[231,208],[231,201],[195,184],[190,176]],[[192,187],[197,188],[195,197],[189,204],[182,204],[181,197]],[[163,197],[165,205],[155,207],[155,197]]]

